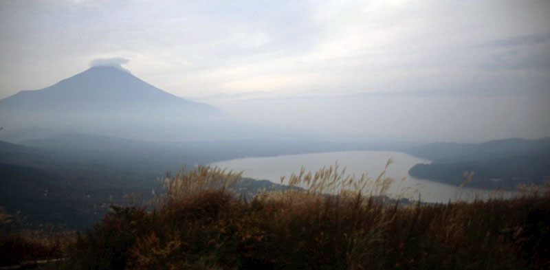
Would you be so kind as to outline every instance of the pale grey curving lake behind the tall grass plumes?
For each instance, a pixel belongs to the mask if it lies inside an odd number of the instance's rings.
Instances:
[[[288,179],[292,172],[299,173],[302,167],[306,172],[316,172],[320,168],[333,166],[336,162],[340,168],[346,168],[346,174],[360,177],[363,173],[367,173],[370,178],[376,179],[384,170],[388,159],[393,159],[393,163],[386,170],[386,176],[395,180],[387,195],[393,198],[405,197],[416,200],[420,196],[421,201],[446,203],[456,200],[472,201],[475,198],[487,199],[490,196],[503,196],[496,192],[472,188],[461,189],[455,185],[411,177],[408,175],[408,170],[412,166],[419,163],[427,164],[430,161],[391,151],[343,151],[278,157],[248,157],[214,162],[210,165],[243,171],[244,177],[281,183],[281,176]],[[369,190],[364,192],[369,193]]]

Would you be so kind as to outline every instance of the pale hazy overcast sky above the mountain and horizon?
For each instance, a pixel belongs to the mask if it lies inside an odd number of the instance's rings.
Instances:
[[[547,0],[13,0],[0,1],[0,40],[0,98],[117,58],[156,87],[267,125],[550,135]]]

